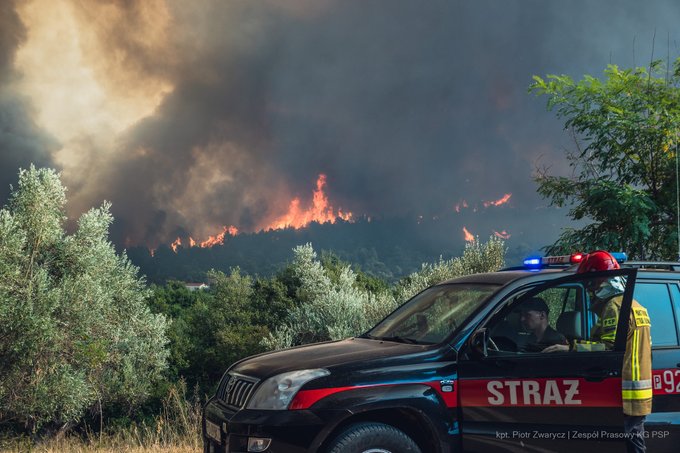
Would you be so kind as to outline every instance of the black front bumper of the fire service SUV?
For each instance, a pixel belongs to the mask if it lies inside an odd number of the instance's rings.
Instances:
[[[264,453],[314,452],[350,414],[348,410],[329,409],[235,410],[213,398],[203,410],[204,453],[247,453],[249,437],[272,439]],[[211,435],[206,431],[206,421],[213,425]]]

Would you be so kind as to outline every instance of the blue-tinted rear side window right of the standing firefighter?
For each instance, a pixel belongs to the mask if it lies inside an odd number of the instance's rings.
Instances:
[[[672,287],[677,291],[677,285]],[[633,298],[649,313],[652,346],[677,346],[678,332],[668,285],[638,282]]]

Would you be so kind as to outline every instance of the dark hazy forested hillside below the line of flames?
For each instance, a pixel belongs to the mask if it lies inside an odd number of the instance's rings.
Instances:
[[[497,208],[493,217],[452,212],[437,219],[312,223],[302,229],[227,236],[224,245],[212,248],[178,247],[174,252],[169,246],[161,245],[154,256],[147,247],[134,247],[127,253],[149,282],[203,282],[210,269],[229,272],[235,266],[250,275],[271,277],[290,262],[294,247],[311,243],[319,252],[332,252],[351,263],[354,269],[394,283],[420,269],[423,263],[436,261],[439,257],[459,256],[465,248],[463,228],[466,225],[478,239],[486,240],[498,229],[495,222],[499,216],[515,217],[514,224],[523,229],[505,241],[508,263],[519,264],[528,254],[557,237],[559,229],[553,223],[561,215],[558,210],[547,212],[545,223],[540,225],[529,222],[523,225],[523,213],[519,208]]]

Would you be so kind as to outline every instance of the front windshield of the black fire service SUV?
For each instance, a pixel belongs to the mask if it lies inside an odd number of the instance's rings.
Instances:
[[[497,289],[496,285],[469,283],[433,286],[399,307],[365,337],[414,344],[441,343]]]

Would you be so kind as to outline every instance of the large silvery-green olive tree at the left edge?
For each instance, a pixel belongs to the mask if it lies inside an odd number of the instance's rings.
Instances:
[[[19,172],[0,210],[0,422],[35,430],[87,409],[132,410],[165,367],[165,319],[108,241],[109,204],[63,229],[65,188],[53,170]]]

